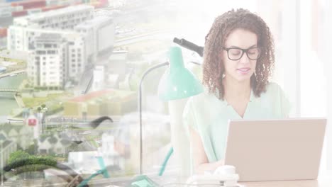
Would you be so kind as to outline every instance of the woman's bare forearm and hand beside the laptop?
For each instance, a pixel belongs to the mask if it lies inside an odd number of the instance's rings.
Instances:
[[[223,160],[209,163],[199,133],[191,127],[189,127],[189,132],[191,142],[190,146],[192,147],[192,157],[194,159],[194,173],[204,174],[204,171],[214,171],[218,166],[222,166]]]

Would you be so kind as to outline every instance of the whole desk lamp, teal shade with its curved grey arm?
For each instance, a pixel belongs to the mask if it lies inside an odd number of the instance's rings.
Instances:
[[[139,112],[140,112],[140,175],[142,174],[143,162],[143,137],[142,137],[142,83],[145,76],[157,69],[166,65],[170,67],[165,71],[160,79],[158,86],[158,96],[162,101],[172,101],[181,98],[188,98],[197,94],[201,94],[204,89],[199,80],[194,77],[194,74],[184,67],[182,58],[182,51],[180,47],[170,47],[168,52],[170,62],[156,64],[150,69],[146,70],[140,80],[139,89]]]

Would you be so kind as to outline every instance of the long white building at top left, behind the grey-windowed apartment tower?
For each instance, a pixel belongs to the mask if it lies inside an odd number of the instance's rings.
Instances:
[[[93,6],[70,6],[61,8],[57,11],[48,11],[44,13],[33,14],[15,18],[13,26],[7,31],[7,49],[8,50],[31,50],[33,45],[35,29],[46,30],[65,30],[72,29],[79,23],[93,18]]]

